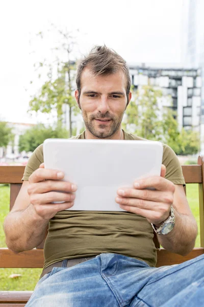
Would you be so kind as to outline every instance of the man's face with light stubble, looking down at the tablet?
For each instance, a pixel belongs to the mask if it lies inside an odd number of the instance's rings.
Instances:
[[[81,76],[81,95],[76,90],[75,98],[90,133],[96,138],[110,138],[120,129],[127,105],[125,75],[118,71],[94,76],[86,68]]]

